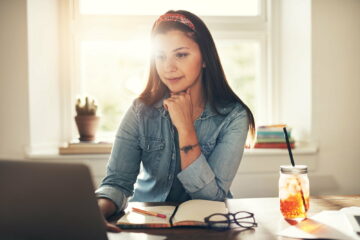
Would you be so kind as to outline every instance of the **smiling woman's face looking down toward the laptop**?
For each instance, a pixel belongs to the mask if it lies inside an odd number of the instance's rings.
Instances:
[[[203,61],[198,44],[179,30],[157,34],[154,43],[156,70],[169,90],[200,90]]]

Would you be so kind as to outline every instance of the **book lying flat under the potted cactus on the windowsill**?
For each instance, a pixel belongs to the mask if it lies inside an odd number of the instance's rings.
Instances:
[[[59,154],[109,154],[111,153],[111,142],[79,142],[74,141],[66,147],[59,148]]]

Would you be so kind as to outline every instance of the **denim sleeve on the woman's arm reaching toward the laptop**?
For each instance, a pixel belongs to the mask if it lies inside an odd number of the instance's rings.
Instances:
[[[111,199],[118,211],[126,207],[127,198],[133,194],[134,183],[140,170],[138,125],[136,102],[134,102],[125,114],[116,134],[107,164],[106,177],[95,192],[100,198]]]

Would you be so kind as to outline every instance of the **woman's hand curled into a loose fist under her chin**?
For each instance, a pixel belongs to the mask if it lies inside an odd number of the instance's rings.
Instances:
[[[193,128],[193,106],[190,88],[186,92],[171,94],[164,100],[164,108],[169,111],[171,121],[178,131]]]

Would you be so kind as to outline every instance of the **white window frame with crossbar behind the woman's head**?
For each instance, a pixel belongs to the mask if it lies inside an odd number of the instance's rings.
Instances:
[[[65,2],[65,1],[64,1]],[[251,39],[257,40],[260,46],[260,69],[257,81],[257,124],[274,122],[279,116],[279,101],[277,92],[279,84],[275,81],[278,75],[277,59],[274,57],[279,49],[277,41],[279,19],[276,14],[279,3],[276,0],[259,0],[260,15],[254,17],[200,16],[207,24],[215,39]],[[150,34],[151,24],[157,16],[116,16],[116,15],[81,15],[79,0],[68,0],[62,3],[62,28],[64,53],[62,54],[62,69],[64,89],[62,92],[63,139],[70,141],[77,136],[74,124],[73,108],[76,97],[82,92],[80,81],[80,41],[86,39],[121,40],[121,31],[115,29],[141,29]],[[270,18],[271,17],[271,18]],[[125,21],[126,20],[126,21]],[[131,31],[130,31],[131,34]],[[64,37],[65,36],[65,37]],[[216,41],[216,40],[215,40]],[[260,90],[261,89],[261,90]]]

